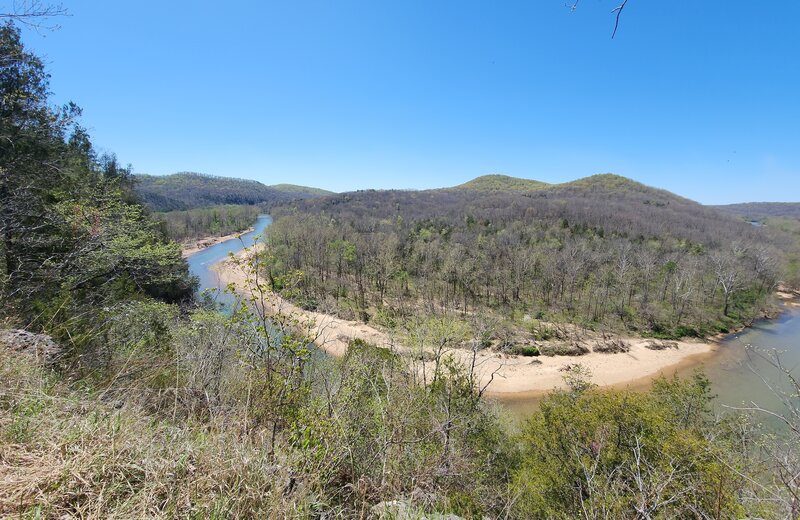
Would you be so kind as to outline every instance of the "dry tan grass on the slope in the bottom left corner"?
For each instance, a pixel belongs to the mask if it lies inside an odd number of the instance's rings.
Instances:
[[[0,517],[313,515],[313,476],[294,478],[297,461],[266,445],[230,424],[109,407],[0,350]]]

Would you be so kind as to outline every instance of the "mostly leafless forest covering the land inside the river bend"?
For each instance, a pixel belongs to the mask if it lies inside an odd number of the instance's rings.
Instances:
[[[789,237],[663,190],[614,175],[535,189],[502,182],[279,208],[268,230],[273,276],[301,272],[305,305],[362,320],[496,309],[704,336],[759,316],[784,274]]]

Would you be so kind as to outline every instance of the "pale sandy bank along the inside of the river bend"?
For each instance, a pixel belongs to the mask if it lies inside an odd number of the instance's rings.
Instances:
[[[242,251],[237,256],[242,258],[246,253]],[[245,273],[230,261],[220,262],[214,269],[219,273],[223,284],[234,283],[242,288],[245,286]],[[295,316],[300,326],[308,327],[317,338],[316,343],[320,348],[334,356],[344,354],[348,342],[356,338],[400,352],[408,350],[402,346],[399,338],[361,322],[306,311],[276,296],[266,304],[271,312],[280,311]],[[700,364],[713,354],[717,346],[715,341],[693,340],[673,342],[677,348],[651,350],[646,346],[650,340],[621,339],[630,345],[629,352],[590,352],[582,356],[532,358],[481,351],[477,355],[476,366],[481,374],[481,385],[491,379],[488,394],[498,398],[524,398],[562,387],[564,371],[570,365],[580,364],[589,369],[592,381],[600,386],[637,386],[659,374],[670,375],[675,370]],[[471,352],[454,350],[452,353],[464,362],[471,361]]]

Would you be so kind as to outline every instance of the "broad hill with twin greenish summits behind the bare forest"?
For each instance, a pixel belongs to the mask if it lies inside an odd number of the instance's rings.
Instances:
[[[751,226],[715,208],[614,174],[561,184],[486,175],[433,190],[366,190],[292,204],[301,212],[343,220],[402,216],[460,225],[465,218],[494,226],[510,222],[564,222],[628,237],[665,237],[706,245],[754,233]]]

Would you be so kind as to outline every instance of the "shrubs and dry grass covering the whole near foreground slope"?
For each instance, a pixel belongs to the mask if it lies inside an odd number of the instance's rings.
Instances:
[[[701,375],[603,392],[576,366],[514,437],[448,356],[424,385],[388,349],[354,341],[315,359],[275,332],[248,310],[130,305],[109,330],[109,377],[72,389],[0,346],[0,455],[15,475],[0,511],[774,516],[748,487],[763,479],[746,424],[714,420]]]

